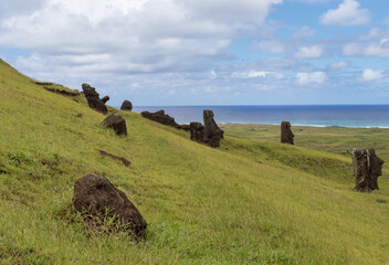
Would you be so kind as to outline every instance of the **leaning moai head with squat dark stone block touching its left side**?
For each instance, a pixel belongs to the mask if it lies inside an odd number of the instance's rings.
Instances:
[[[223,138],[224,131],[214,121],[213,112],[206,109],[202,117],[204,125],[196,121],[190,123],[190,139],[210,147],[220,147],[220,139]]]

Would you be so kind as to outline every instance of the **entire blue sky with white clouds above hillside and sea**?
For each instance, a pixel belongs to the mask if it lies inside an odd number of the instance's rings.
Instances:
[[[389,1],[13,0],[0,57],[111,105],[389,103]]]

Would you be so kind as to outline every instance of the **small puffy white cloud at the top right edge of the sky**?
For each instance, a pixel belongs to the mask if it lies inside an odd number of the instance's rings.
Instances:
[[[370,20],[370,12],[360,9],[356,0],[344,0],[337,9],[330,9],[320,17],[322,24],[333,25],[359,25]]]

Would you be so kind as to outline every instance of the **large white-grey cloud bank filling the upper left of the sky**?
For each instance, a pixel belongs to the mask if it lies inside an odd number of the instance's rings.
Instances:
[[[20,9],[32,7],[30,0],[15,1]],[[69,67],[74,64],[95,73],[101,64],[101,71],[128,74],[209,70],[225,57],[234,38],[257,29],[271,6],[282,0],[38,2],[34,9],[0,18],[0,45],[33,50],[53,64],[59,60],[66,73],[78,73]]]

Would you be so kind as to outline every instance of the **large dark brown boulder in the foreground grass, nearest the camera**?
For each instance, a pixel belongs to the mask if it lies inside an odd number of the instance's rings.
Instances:
[[[74,183],[74,208],[87,215],[104,219],[105,214],[127,224],[137,235],[144,236],[147,222],[126,194],[109,180],[98,174],[87,174]]]

